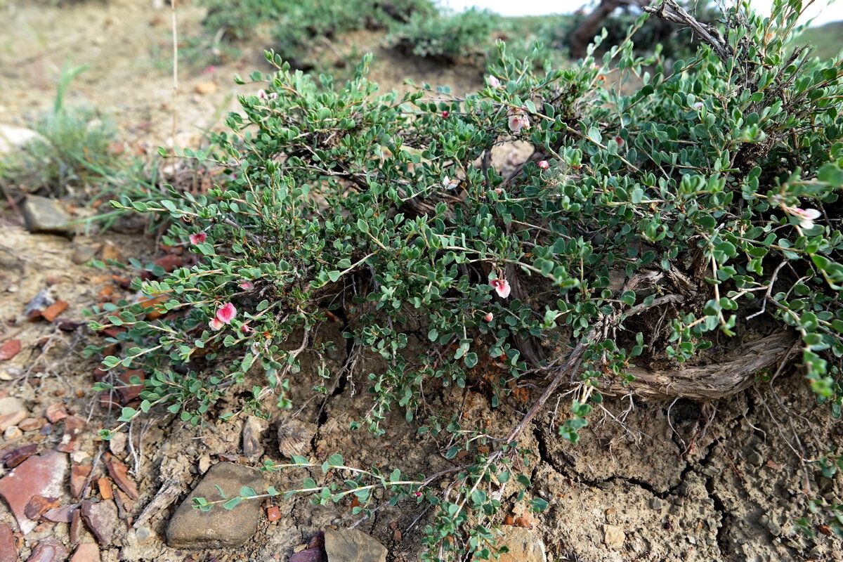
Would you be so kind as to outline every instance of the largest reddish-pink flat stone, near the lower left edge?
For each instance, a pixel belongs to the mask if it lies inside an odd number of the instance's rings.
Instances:
[[[67,474],[67,455],[50,451],[39,457],[27,458],[0,479],[0,495],[6,500],[21,533],[30,533],[37,523],[26,517],[26,505],[33,496],[59,497]]]

